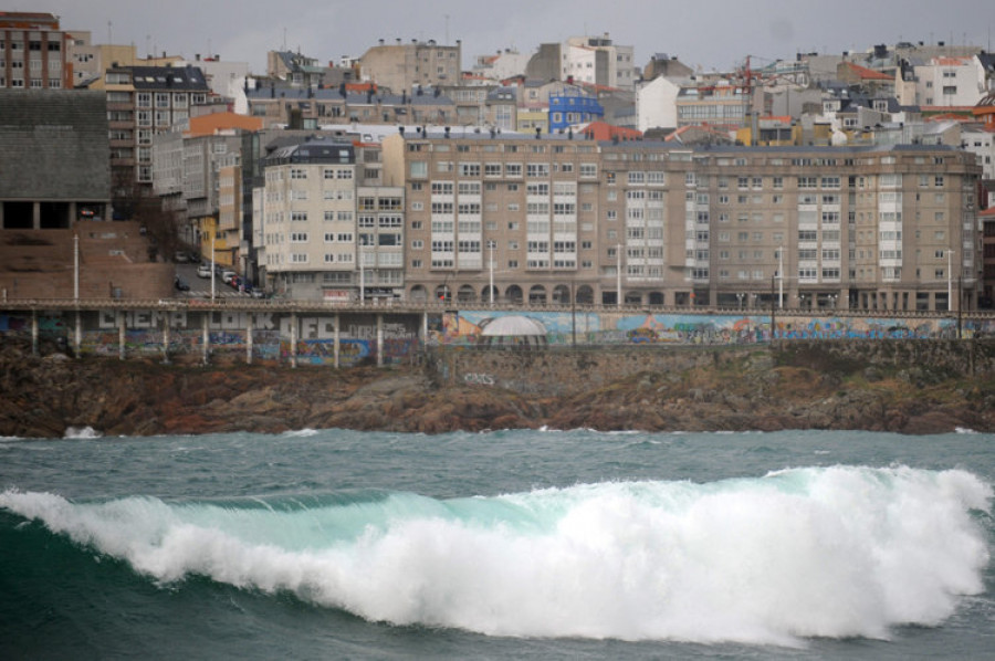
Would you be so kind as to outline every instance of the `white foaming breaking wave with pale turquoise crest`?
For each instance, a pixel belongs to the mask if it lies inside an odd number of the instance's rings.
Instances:
[[[290,590],[486,634],[797,644],[935,626],[984,590],[992,487],[964,471],[799,469],[434,501],[0,506],[160,581]]]

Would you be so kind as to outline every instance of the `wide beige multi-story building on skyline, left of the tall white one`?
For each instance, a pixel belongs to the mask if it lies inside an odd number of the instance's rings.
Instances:
[[[360,76],[395,94],[413,92],[416,87],[452,85],[460,81],[460,42],[442,45],[430,39],[411,43],[385,44],[367,50],[359,57]]]

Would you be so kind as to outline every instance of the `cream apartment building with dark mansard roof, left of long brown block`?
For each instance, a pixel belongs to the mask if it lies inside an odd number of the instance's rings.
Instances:
[[[365,185],[364,161],[362,147],[323,139],[265,159],[253,217],[271,291],[324,301],[400,295],[405,191]]]

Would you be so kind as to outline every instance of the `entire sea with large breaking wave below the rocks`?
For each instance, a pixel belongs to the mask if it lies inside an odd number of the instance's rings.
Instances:
[[[2,659],[995,658],[995,437],[0,439]]]

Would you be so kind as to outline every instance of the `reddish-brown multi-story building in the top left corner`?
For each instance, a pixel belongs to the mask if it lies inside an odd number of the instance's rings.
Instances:
[[[72,90],[71,43],[54,14],[0,11],[0,88]]]

